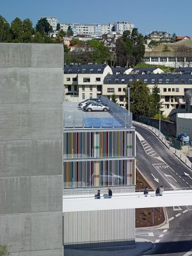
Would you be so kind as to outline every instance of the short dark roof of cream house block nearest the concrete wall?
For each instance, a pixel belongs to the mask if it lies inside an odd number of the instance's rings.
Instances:
[[[65,65],[64,74],[102,74],[106,64]]]

